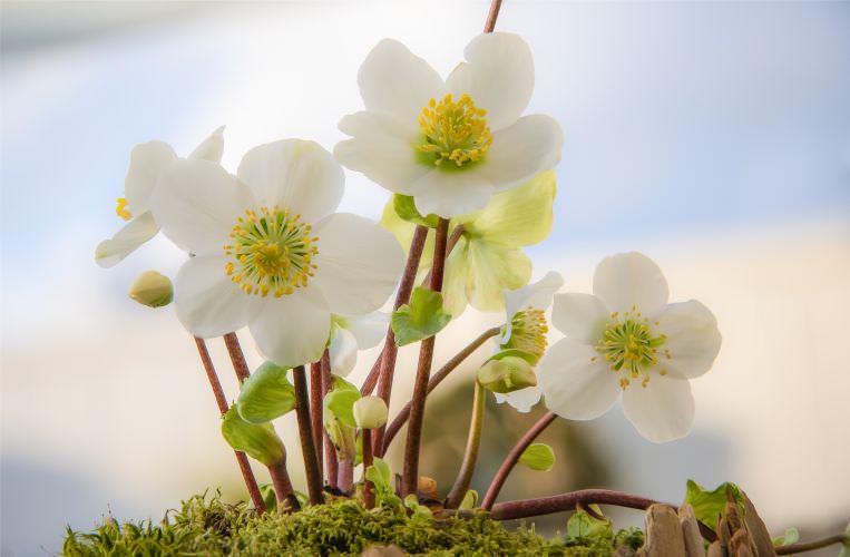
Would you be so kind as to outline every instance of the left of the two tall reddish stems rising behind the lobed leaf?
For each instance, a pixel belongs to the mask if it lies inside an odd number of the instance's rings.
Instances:
[[[404,274],[399,283],[399,292],[395,294],[393,311],[410,301],[410,293],[413,292],[413,283],[417,278],[419,261],[422,258],[422,250],[424,250],[427,238],[428,227],[418,225],[416,231],[413,231],[413,238],[410,241],[408,262],[404,265]],[[378,395],[387,403],[387,408],[390,408],[392,378],[395,373],[395,356],[398,353],[399,346],[395,344],[395,333],[392,330],[392,325],[390,325],[387,328],[387,338],[383,341],[383,352],[381,353],[381,369],[378,372]],[[381,450],[383,447],[383,432],[384,428],[379,428],[374,431],[372,450],[377,457],[383,456],[383,451]]]

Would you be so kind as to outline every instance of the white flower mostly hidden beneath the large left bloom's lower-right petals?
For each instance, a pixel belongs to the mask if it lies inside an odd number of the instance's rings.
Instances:
[[[329,352],[331,372],[346,377],[358,363],[358,351],[378,345],[387,335],[390,314],[374,312],[362,316],[334,315]]]

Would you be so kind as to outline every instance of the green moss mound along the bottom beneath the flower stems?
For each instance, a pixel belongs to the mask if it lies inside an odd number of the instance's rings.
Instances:
[[[634,532],[632,532],[634,534]],[[634,537],[629,538],[634,543]],[[367,510],[354,500],[309,507],[294,515],[256,516],[244,505],[218,496],[195,496],[179,511],[152,521],[119,525],[107,519],[95,531],[68,529],[67,556],[254,556],[360,555],[372,545],[393,544],[408,554],[437,556],[547,555],[607,556],[610,539],[567,547],[547,540],[534,528],[517,531],[486,515],[471,519],[408,518],[398,510]]]

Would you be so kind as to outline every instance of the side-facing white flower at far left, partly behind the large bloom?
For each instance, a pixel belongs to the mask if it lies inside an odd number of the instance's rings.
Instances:
[[[188,156],[190,159],[222,160],[224,126],[204,139]],[[137,145],[130,153],[130,166],[124,179],[124,197],[119,197],[115,213],[128,223],[111,238],[98,244],[95,261],[101,267],[111,267],[159,232],[150,214],[150,197],[159,174],[178,160],[170,145],[148,141]]]

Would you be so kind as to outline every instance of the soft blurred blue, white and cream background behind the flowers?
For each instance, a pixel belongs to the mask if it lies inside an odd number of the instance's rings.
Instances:
[[[157,138],[185,155],[226,124],[231,169],[283,137],[330,149],[340,117],[362,106],[370,48],[398,38],[446,75],[487,7],[0,6],[1,547],[35,555],[58,550],[68,521],[89,528],[107,508],[156,518],[236,481],[189,338],[170,309],[125,294],[182,255],[157,240],[117,268],[94,263],[121,224],[130,148]],[[506,0],[497,29],[530,43],[529,111],[566,136],[535,275],[554,268],[588,291],[603,256],[639,250],[724,334],[715,370],[694,382],[691,438],[654,446],[619,410],[587,426],[615,462],[612,487],[680,500],[687,477],[730,479],[774,530],[846,524],[850,2]],[[342,209],[378,217],[385,199],[348,174]],[[468,312],[447,336],[462,343],[496,320]]]

